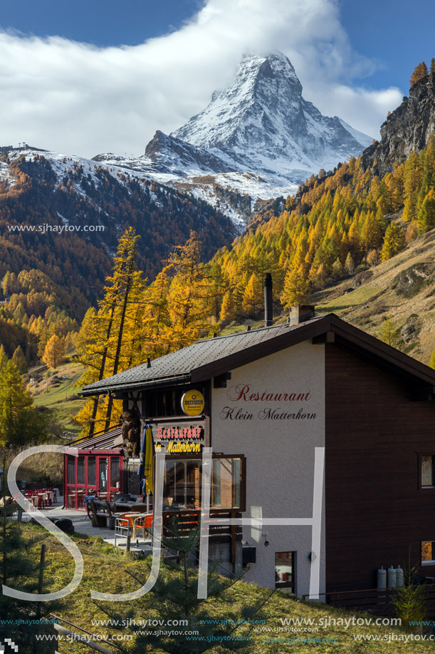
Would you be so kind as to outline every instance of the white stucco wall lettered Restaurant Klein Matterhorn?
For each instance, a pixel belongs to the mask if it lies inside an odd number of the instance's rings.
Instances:
[[[275,399],[276,394],[282,394],[281,399]],[[284,394],[295,394],[295,397],[303,394],[303,399],[284,399]],[[251,418],[237,418],[238,412],[239,416]],[[298,412],[305,416],[315,414],[315,418],[272,417]],[[243,517],[310,518],[315,447],[325,446],[324,346],[303,342],[231,371],[227,387],[212,390],[211,439],[214,451],[246,456]],[[262,531],[267,532],[268,547],[264,546]],[[243,539],[257,547],[256,563],[251,564],[246,581],[273,588],[275,553],[296,551],[296,591],[299,596],[308,594],[311,532],[310,526],[244,526]],[[324,494],[321,534],[320,593],[323,593]]]

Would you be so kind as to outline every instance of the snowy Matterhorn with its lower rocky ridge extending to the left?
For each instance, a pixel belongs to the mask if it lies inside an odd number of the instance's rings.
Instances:
[[[372,141],[341,118],[323,116],[302,93],[283,53],[250,54],[231,86],[215,91],[209,106],[176,131],[157,131],[144,156],[98,160],[142,171],[248,220],[257,200],[295,193],[312,173],[332,170]]]

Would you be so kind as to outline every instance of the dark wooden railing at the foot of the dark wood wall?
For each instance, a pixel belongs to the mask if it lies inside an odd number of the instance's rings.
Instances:
[[[435,618],[435,584],[423,584],[426,598],[427,618]],[[362,588],[357,591],[334,591],[332,593],[320,593],[320,598],[330,606],[345,608],[353,611],[367,611],[379,615],[392,615],[394,605],[392,597],[396,588]],[[303,595],[308,599],[309,595]]]

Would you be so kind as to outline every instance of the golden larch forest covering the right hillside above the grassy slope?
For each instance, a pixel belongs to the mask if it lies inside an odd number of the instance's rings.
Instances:
[[[402,218],[402,220],[399,220]],[[382,177],[361,158],[320,173],[288,198],[283,213],[214,257],[228,285],[226,320],[255,312],[263,273],[273,273],[283,307],[401,252],[435,227],[435,140]]]

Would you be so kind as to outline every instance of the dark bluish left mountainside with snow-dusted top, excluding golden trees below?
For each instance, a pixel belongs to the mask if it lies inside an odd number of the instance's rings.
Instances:
[[[236,234],[209,204],[132,171],[31,148],[3,148],[0,159],[0,279],[42,270],[68,290],[74,317],[101,295],[127,225],[141,236],[138,263],[150,279],[191,230],[204,257]]]

